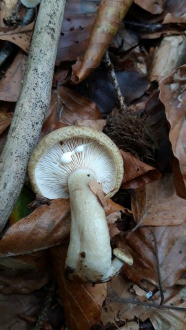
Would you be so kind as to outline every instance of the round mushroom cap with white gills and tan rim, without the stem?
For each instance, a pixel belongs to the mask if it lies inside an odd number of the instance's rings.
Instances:
[[[61,156],[70,153],[72,161],[61,164]],[[66,126],[43,137],[30,157],[28,175],[38,195],[68,198],[68,177],[78,168],[93,170],[107,197],[121,186],[123,158],[118,147],[110,137],[87,126]]]

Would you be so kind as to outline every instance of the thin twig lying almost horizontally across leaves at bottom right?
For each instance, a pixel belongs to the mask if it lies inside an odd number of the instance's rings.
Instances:
[[[141,300],[138,300],[136,298],[107,298],[108,301],[113,303],[127,303],[132,305],[138,305],[138,306],[147,306],[147,307],[155,307],[157,309],[174,309],[175,311],[186,311],[186,308],[183,307],[174,307],[170,305],[157,305],[157,304],[151,304],[151,303],[144,303]]]

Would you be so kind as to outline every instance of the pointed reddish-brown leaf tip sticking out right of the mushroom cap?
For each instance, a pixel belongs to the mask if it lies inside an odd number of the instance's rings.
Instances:
[[[124,177],[121,188],[130,189],[144,186],[161,177],[161,173],[156,168],[141,162],[130,153],[121,150],[124,163]]]

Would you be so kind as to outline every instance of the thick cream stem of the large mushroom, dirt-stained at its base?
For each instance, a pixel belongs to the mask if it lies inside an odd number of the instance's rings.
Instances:
[[[88,168],[75,170],[68,179],[72,224],[66,274],[99,283],[109,279],[112,250],[105,211],[88,185],[92,180],[96,175]]]

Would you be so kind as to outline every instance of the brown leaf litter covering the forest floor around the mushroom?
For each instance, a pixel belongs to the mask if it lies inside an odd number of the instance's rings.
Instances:
[[[30,329],[17,314],[26,311],[31,320],[34,305],[41,308],[41,300],[32,292],[43,288],[53,277],[58,282],[70,330],[186,327],[186,5],[185,1],[176,0],[132,2],[68,1],[52,98],[41,137],[74,124],[93,126],[107,133],[108,118],[113,120],[116,116],[123,116],[127,122],[129,114],[120,109],[109,69],[103,61],[110,46],[116,80],[133,123],[145,116],[147,126],[141,122],[145,133],[152,137],[147,139],[151,157],[144,157],[143,150],[136,153],[134,124],[129,132],[133,148],[126,148],[125,142],[118,143],[125,176],[114,200],[118,199],[121,205],[105,200],[101,187],[93,184],[92,190],[105,205],[112,248],[129,252],[134,264],[123,265],[121,274],[107,285],[92,287],[67,281],[64,262],[70,233],[70,203],[68,199],[48,201],[37,197],[32,203],[37,208],[31,214],[12,213],[0,241],[0,288],[2,294],[8,294],[1,295],[0,308],[6,311],[6,318],[1,320],[2,330]],[[110,12],[105,11],[107,5]],[[23,9],[20,13],[24,14]],[[34,22],[21,29],[16,25],[5,26],[3,17],[11,14],[8,1],[3,1],[1,49],[10,41],[17,45],[17,50],[1,66],[1,149],[14,102],[19,97],[34,26]],[[21,208],[25,208],[25,203],[26,199],[20,197]],[[43,323],[43,329],[51,327]]]

